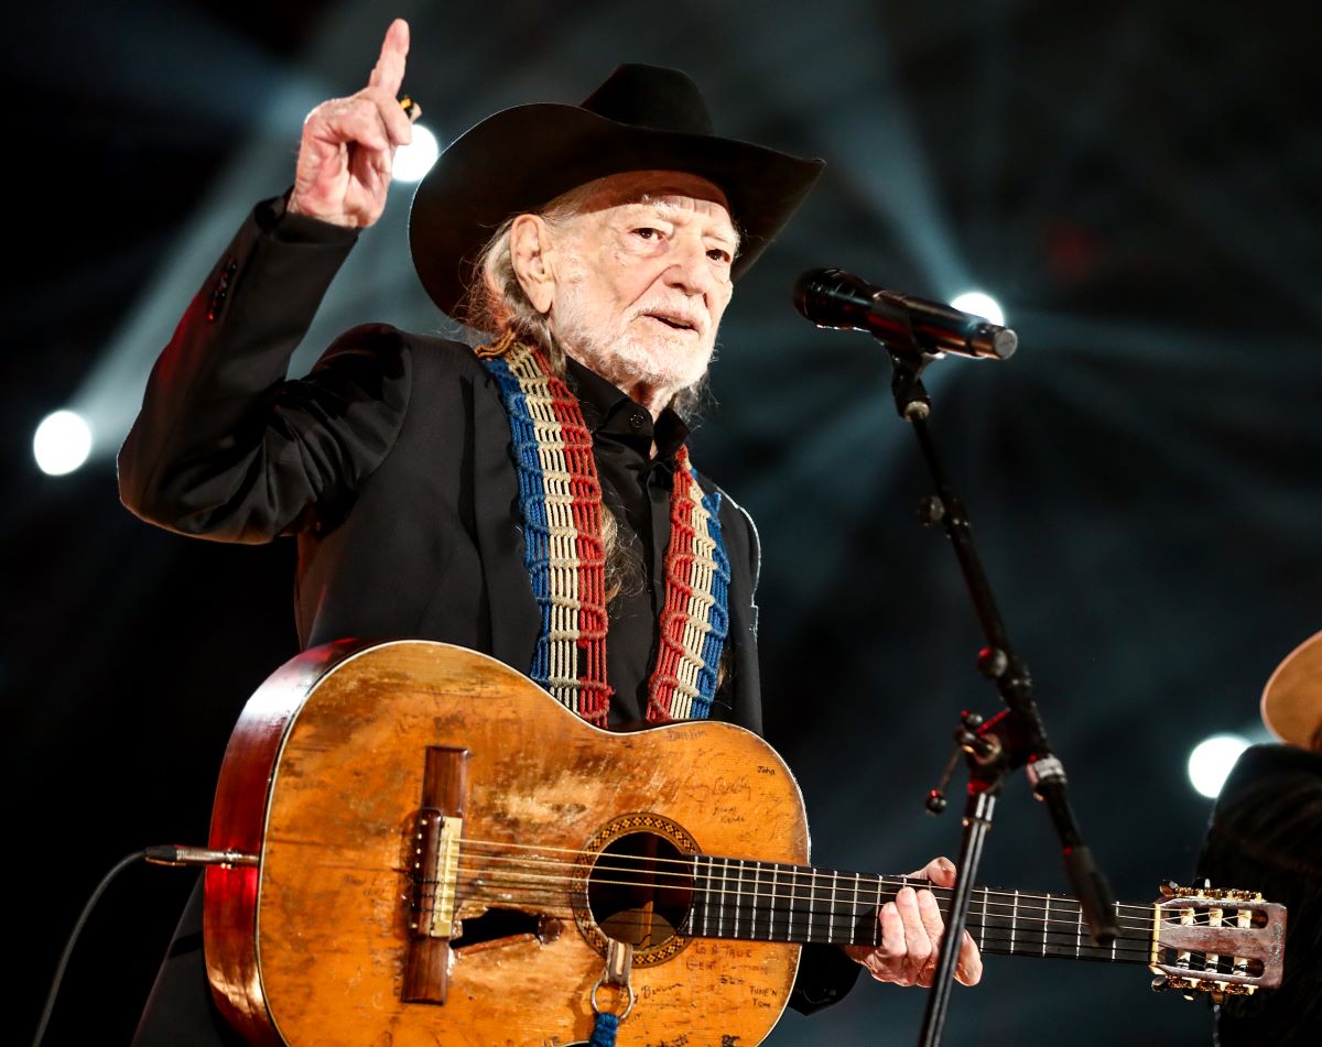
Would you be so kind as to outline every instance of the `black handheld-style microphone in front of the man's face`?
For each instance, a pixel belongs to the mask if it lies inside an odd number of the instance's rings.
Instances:
[[[1019,345],[1010,328],[937,301],[873,287],[834,268],[809,270],[795,283],[795,308],[821,328],[866,330],[882,341],[915,342],[924,353],[1009,360]]]

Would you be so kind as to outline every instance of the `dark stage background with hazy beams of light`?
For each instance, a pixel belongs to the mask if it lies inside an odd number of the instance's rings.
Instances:
[[[247,208],[286,188],[301,116],[362,83],[395,13],[414,26],[406,87],[443,139],[509,104],[576,102],[635,59],[690,71],[724,134],[830,163],[740,283],[694,442],[760,522],[769,735],[800,775],[814,859],[894,872],[953,857],[958,802],[933,820],[923,797],[958,711],[997,707],[954,561],[914,524],[925,479],[888,365],[789,304],[795,276],[829,264],[1005,304],[1019,353],[933,366],[935,431],[1116,894],[1191,875],[1210,801],[1188,750],[1257,730],[1270,670],[1322,627],[1318,26],[1288,9],[8,8],[0,689],[19,1035],[102,874],[205,839],[234,718],[295,653],[292,549],[140,524],[112,455],[192,290]],[[408,196],[364,238],[297,368],[352,323],[439,324],[407,260]],[[95,457],[45,477],[32,432],[67,405],[91,415]],[[980,879],[1068,890],[1018,777]],[[136,866],[110,887],[49,1043],[128,1040],[190,883]],[[1147,981],[993,958],[954,994],[947,1042],[1207,1043],[1203,1005]],[[921,1007],[861,985],[787,1015],[771,1043],[910,1043]]]

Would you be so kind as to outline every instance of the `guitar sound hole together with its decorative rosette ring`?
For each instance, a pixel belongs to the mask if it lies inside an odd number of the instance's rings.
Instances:
[[[570,886],[574,920],[588,945],[605,956],[607,939],[633,947],[633,966],[677,957],[693,907],[698,842],[672,818],[620,814],[583,846]]]

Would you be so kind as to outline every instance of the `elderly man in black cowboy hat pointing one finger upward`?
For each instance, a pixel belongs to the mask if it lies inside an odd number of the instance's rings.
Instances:
[[[287,381],[410,141],[407,48],[395,21],[369,86],[312,111],[292,192],[256,209],[194,299],[120,455],[126,504],[186,534],[296,535],[305,646],[446,640],[602,726],[710,715],[760,730],[756,531],[689,464],[681,415],[734,279],[820,161],[715,136],[691,81],[646,66],[623,66],[583,106],[497,114],[446,151],[410,225],[423,286],[484,344],[365,327]],[[546,541],[557,533],[572,558]],[[699,599],[682,570],[694,558],[715,579]],[[954,870],[937,859],[923,875],[949,886]],[[227,1042],[197,910],[141,1044]],[[850,960],[931,984],[931,892],[906,888],[879,919],[876,948],[805,948],[792,1005],[838,998]],[[965,940],[958,977],[980,973]]]

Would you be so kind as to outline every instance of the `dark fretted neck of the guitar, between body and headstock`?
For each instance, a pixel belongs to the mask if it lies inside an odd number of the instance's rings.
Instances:
[[[932,888],[916,876],[878,876],[810,866],[697,855],[693,908],[683,928],[695,937],[876,945],[876,911],[904,887]],[[932,888],[940,903],[949,888]],[[1116,906],[1120,936],[1096,945],[1079,903],[1064,895],[974,887],[966,928],[984,953],[1056,956],[1147,964],[1155,913]]]

